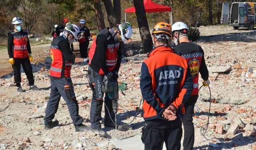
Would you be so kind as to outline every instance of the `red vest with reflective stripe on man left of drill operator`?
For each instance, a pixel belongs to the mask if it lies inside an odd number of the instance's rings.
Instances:
[[[66,61],[65,58],[62,56],[62,52],[58,48],[58,44],[62,40],[66,39],[63,36],[58,36],[55,40],[52,41],[52,44],[50,46],[52,57],[50,76],[70,78],[72,62]]]

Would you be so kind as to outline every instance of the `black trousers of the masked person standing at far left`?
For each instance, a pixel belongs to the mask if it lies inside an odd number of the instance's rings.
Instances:
[[[30,86],[34,85],[34,76],[32,72],[32,66],[30,64],[30,61],[27,58],[14,58],[14,64],[12,65],[12,68],[14,70],[14,82],[16,83],[16,86],[20,86],[21,82],[21,75],[20,75],[20,65],[22,65],[22,68],[28,78],[28,84]]]

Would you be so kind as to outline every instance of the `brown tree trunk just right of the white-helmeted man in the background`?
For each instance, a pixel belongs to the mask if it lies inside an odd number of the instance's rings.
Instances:
[[[104,22],[100,0],[94,0],[94,9],[95,9],[95,16],[98,24],[98,30],[101,31],[104,28],[106,28],[106,26]]]

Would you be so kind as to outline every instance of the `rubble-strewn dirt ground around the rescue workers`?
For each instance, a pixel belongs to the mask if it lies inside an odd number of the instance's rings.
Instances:
[[[115,131],[112,128],[105,128],[102,124],[103,130],[108,134],[106,138],[101,138],[90,130],[74,132],[66,102],[62,99],[55,115],[55,119],[60,122],[59,126],[52,130],[44,130],[44,110],[50,95],[50,78],[47,75],[49,72],[44,74],[44,70],[40,70],[34,73],[35,84],[42,89],[40,91],[28,90],[28,81],[22,73],[22,85],[26,90],[24,93],[16,92],[13,77],[0,78],[0,150],[126,150],[122,146],[114,146],[112,141],[140,134],[144,122],[140,112],[136,114],[136,110],[141,100],[140,67],[146,59],[146,54],[140,54],[142,46],[138,40],[139,32],[134,32],[134,42],[125,44],[129,56],[122,58],[118,79],[127,83],[127,86],[124,91],[119,91],[117,122],[129,125],[119,127]],[[196,43],[204,50],[211,80],[212,103],[209,114],[209,102],[204,101],[209,99],[210,93],[207,88],[202,88],[193,116],[194,149],[256,150],[256,78],[253,77],[256,73],[256,30],[202,26],[200,40]],[[32,46],[32,63],[43,63],[46,56],[49,56],[49,46],[50,44]],[[74,44],[74,48],[78,56],[78,43]],[[12,68],[8,63],[7,50],[0,50],[0,53],[0,73],[3,76],[9,74]],[[214,71],[218,67],[229,69],[224,72]],[[84,124],[90,126],[92,93],[85,76],[84,70],[87,68],[87,64],[74,64],[71,74],[79,102],[79,114],[84,118]],[[201,86],[202,79],[199,82]],[[8,106],[10,102],[12,103]],[[102,117],[105,113],[107,110],[103,108]],[[137,115],[135,119],[134,115]],[[210,120],[205,134],[206,139],[200,134],[200,130],[206,128],[208,115]],[[132,120],[134,121],[130,123]],[[233,126],[238,126],[234,135],[230,131]],[[219,128],[223,129],[222,132]]]

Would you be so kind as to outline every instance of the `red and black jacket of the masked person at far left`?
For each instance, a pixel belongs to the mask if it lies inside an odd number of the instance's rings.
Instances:
[[[28,40],[28,31],[11,31],[8,33],[8,55],[9,58],[27,58],[31,54]]]

